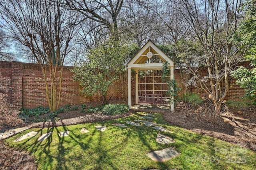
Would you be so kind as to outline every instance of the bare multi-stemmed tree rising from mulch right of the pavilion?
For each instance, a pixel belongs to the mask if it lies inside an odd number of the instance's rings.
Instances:
[[[184,36],[185,42],[180,43],[180,37],[172,34],[177,32],[172,22],[164,18],[162,21],[169,28],[169,35],[179,55],[193,75],[194,86],[208,94],[214,104],[214,114],[218,116],[229,89],[229,74],[242,59],[237,44],[230,39],[237,29],[242,0],[173,0],[169,5],[186,21],[184,26],[189,32]],[[190,55],[188,50],[184,50],[186,43],[194,44],[190,52],[200,50],[199,55],[194,55],[197,66],[192,66],[186,60]],[[206,76],[198,74],[202,69],[200,66],[206,68]]]

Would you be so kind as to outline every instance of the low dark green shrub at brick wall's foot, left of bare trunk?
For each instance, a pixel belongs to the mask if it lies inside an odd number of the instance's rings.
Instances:
[[[38,106],[37,108],[32,108],[32,109],[22,108],[20,111],[21,111],[20,116],[28,118],[32,116],[39,116],[40,114],[49,113],[50,109],[44,108],[43,106]]]

